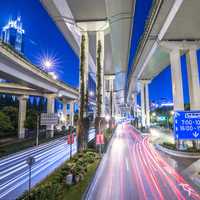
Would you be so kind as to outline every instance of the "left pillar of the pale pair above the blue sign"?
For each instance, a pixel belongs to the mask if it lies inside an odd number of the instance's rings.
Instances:
[[[178,48],[170,51],[170,62],[174,110],[184,110],[180,50]]]

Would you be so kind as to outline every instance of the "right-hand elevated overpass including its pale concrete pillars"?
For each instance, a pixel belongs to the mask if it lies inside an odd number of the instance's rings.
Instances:
[[[129,76],[129,101],[141,91],[142,125],[150,125],[148,83],[171,65],[174,110],[184,110],[180,56],[186,54],[191,109],[200,109],[196,51],[199,48],[200,1],[154,2]]]

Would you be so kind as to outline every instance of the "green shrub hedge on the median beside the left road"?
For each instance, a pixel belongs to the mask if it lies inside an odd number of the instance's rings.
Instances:
[[[92,150],[76,154],[70,161],[67,161],[58,168],[52,175],[47,177],[40,184],[36,185],[29,193],[26,191],[18,200],[60,200],[63,199],[63,189],[67,186],[66,176],[73,173],[79,180],[84,178],[90,164],[99,159],[99,155]],[[76,184],[76,183],[74,183]]]

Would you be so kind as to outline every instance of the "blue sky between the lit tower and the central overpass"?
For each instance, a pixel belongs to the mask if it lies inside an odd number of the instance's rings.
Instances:
[[[47,54],[55,57],[59,79],[78,87],[79,59],[39,0],[1,0],[0,10],[0,28],[7,24],[9,17],[21,16],[25,29],[24,52],[32,63],[39,65]]]

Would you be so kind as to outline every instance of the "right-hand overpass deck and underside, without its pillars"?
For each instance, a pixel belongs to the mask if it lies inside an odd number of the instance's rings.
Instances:
[[[128,99],[138,80],[152,80],[170,65],[169,49],[163,43],[182,43],[180,54],[186,53],[188,43],[199,46],[199,10],[200,2],[195,0],[155,1],[129,76]]]

